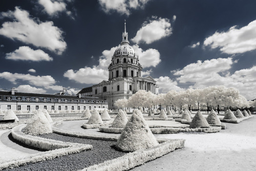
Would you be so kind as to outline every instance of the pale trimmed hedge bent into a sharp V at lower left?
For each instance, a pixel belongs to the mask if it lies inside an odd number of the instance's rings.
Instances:
[[[23,159],[10,160],[4,163],[0,163],[0,169],[13,168],[28,163],[36,163],[40,161],[54,159],[60,156],[70,155],[74,153],[80,153],[83,151],[88,151],[92,149],[92,145],[89,144],[79,144],[79,143],[69,143],[56,140],[50,140],[41,137],[35,137],[31,135],[24,134],[22,129],[24,125],[16,126],[12,129],[12,136],[19,142],[25,143],[32,147],[37,147],[40,149],[53,149],[47,152],[38,152],[36,154],[30,155]]]

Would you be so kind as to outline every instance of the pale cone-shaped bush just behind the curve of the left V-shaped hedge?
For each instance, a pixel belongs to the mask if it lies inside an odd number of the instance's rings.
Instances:
[[[36,111],[23,132],[29,135],[44,135],[52,133],[52,127],[44,113]]]

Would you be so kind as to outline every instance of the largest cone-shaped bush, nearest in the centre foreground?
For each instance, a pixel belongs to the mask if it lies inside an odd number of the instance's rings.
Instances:
[[[145,119],[139,110],[134,110],[132,117],[125,125],[117,140],[116,147],[124,152],[134,152],[138,149],[158,145]]]

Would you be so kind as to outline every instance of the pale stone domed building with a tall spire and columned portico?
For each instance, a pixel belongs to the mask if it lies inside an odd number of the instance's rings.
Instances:
[[[115,50],[109,65],[109,80],[103,80],[92,87],[82,89],[81,96],[96,96],[108,101],[109,109],[118,99],[128,99],[139,90],[158,94],[158,85],[151,76],[141,77],[142,66],[139,57],[131,47],[124,23],[121,45]]]

